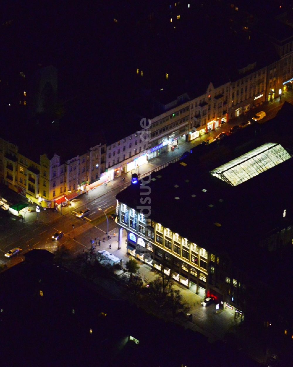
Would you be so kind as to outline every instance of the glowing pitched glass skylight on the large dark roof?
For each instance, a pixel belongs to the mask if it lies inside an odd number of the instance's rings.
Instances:
[[[291,158],[277,143],[266,143],[210,171],[213,176],[237,186]]]

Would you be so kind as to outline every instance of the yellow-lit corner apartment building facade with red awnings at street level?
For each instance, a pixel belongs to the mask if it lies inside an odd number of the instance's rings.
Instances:
[[[93,188],[104,172],[105,144],[65,163],[57,154],[51,159],[43,154],[37,163],[21,154],[17,145],[0,139],[1,182],[45,208],[54,208]]]

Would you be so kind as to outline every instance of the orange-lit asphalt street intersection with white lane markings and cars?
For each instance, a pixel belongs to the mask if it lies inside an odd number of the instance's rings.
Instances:
[[[10,266],[15,264],[15,262],[21,261],[21,259],[17,260],[16,258],[21,258],[22,253],[31,248],[53,251],[58,245],[65,244],[73,254],[77,254],[83,249],[90,247],[92,239],[99,237],[103,240],[107,232],[107,221],[103,211],[105,211],[107,217],[115,211],[115,196],[120,190],[122,190],[122,187],[105,193],[103,196],[79,207],[77,212],[86,207],[90,209],[87,218],[77,218],[76,212],[73,210],[65,215],[56,214],[56,219],[43,224],[28,224],[19,220],[9,219],[6,224],[0,227],[1,263],[7,263]],[[99,208],[103,211],[99,211]],[[117,225],[111,219],[108,219],[108,224],[109,233],[112,233],[117,228]],[[64,236],[57,241],[52,240],[52,235],[59,231],[62,231]],[[6,258],[4,254],[14,247],[21,248],[22,252],[11,259]]]

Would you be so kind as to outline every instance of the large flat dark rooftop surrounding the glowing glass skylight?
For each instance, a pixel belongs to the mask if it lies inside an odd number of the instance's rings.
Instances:
[[[293,106],[285,106],[287,108],[292,113]],[[258,251],[256,244],[268,232],[284,226],[283,209],[292,209],[288,198],[292,191],[293,159],[237,186],[209,172],[266,142],[278,143],[278,137],[274,137],[276,134],[265,135],[264,125],[259,138],[247,142],[247,136],[243,140],[240,132],[238,136],[235,134],[236,147],[230,145],[232,136],[223,145],[212,144],[206,153],[202,153],[199,146],[200,149],[193,149],[186,158],[153,172],[152,181],[147,185],[151,188],[150,218],[209,251],[222,252],[229,248],[235,257],[243,252],[243,259],[247,257],[248,248]],[[254,129],[251,130],[252,135],[255,134]],[[116,198],[131,208],[137,208],[141,205],[143,190],[139,184],[130,185]]]

